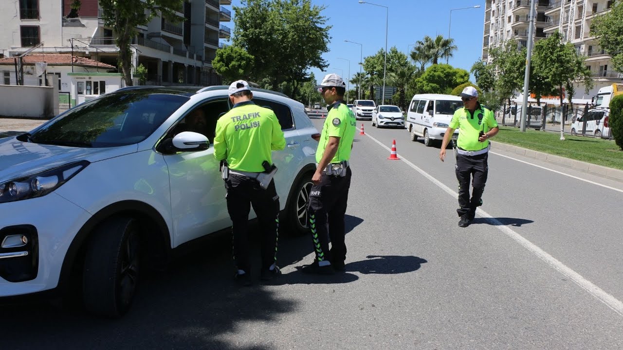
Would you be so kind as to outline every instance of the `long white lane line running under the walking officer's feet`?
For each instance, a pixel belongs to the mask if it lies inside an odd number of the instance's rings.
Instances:
[[[366,135],[374,142],[380,144],[381,147],[387,149],[388,151],[391,151],[391,148],[389,148],[388,146],[385,146],[383,143],[381,143],[381,141],[376,140],[369,134],[366,134]],[[424,177],[432,181],[435,185],[439,186],[445,192],[448,192],[452,197],[455,197],[455,198],[459,197],[459,194],[457,192],[452,191],[450,187],[445,186],[442,182],[435,179],[435,177],[430,176],[430,174],[426,173],[426,171],[418,168],[416,164],[413,164],[410,161],[407,161],[407,159],[402,157],[400,154],[398,154],[398,156],[399,158],[401,158],[400,159],[401,161],[411,166],[411,168],[415,169],[418,173],[422,174]],[[524,248],[529,250],[531,253],[535,254],[537,257],[539,257],[544,262],[548,263],[551,267],[553,267],[558,272],[562,273],[565,277],[574,281],[581,288],[583,288],[588,293],[590,293],[592,296],[597,298],[597,300],[604,303],[606,306],[614,310],[614,312],[616,312],[620,316],[623,316],[623,303],[619,301],[617,298],[614,298],[614,296],[609,295],[608,293],[606,293],[606,291],[594,285],[594,283],[582,277],[579,273],[571,270],[571,268],[559,262],[556,258],[552,257],[547,252],[545,252],[545,250],[537,247],[535,244],[533,244],[529,240],[523,238],[520,234],[510,229],[510,227],[503,225],[502,222],[499,222],[496,219],[493,219],[493,217],[489,215],[487,212],[485,212],[485,210],[478,208],[476,212],[478,213],[478,215],[485,217],[486,220],[488,220],[491,224],[495,225],[495,227],[497,227],[500,231],[504,232],[504,234],[508,235],[508,237],[515,240],[519,244],[521,244]]]

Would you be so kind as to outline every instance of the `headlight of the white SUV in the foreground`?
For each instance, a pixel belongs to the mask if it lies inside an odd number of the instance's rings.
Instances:
[[[69,181],[75,174],[80,173],[82,169],[87,168],[88,164],[90,164],[88,161],[78,161],[37,174],[0,182],[0,203],[45,196]]]

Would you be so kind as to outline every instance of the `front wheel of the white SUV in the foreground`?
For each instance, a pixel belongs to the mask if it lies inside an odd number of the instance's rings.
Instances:
[[[93,232],[83,270],[83,300],[90,313],[119,317],[132,305],[139,277],[138,222],[113,217]]]

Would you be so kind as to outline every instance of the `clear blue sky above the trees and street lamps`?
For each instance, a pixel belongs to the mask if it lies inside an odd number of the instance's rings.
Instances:
[[[312,2],[326,7],[323,14],[328,19],[327,24],[332,26],[329,52],[323,55],[329,68],[326,72],[312,69],[318,80],[327,72],[348,75],[348,62],[337,57],[350,60],[351,76],[359,71],[359,45],[345,42],[345,39],[363,44],[363,57],[385,48],[384,7],[359,4],[358,0],[312,0]],[[482,55],[485,16],[483,0],[371,0],[371,2],[389,7],[388,49],[396,46],[405,53],[407,45],[421,40],[424,35],[435,37],[442,34],[447,37],[450,9],[480,5],[480,8],[452,11],[450,37],[455,40],[455,45],[459,49],[455,51],[449,63],[469,71],[473,62]],[[240,6],[240,0],[232,1],[232,5]],[[233,27],[233,24],[232,21],[226,25]]]

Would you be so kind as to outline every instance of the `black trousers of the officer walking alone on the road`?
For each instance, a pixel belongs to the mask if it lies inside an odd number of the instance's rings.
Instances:
[[[476,208],[482,205],[482,192],[485,191],[485,182],[489,167],[487,158],[489,153],[478,154],[477,156],[466,156],[457,154],[457,165],[455,170],[457,180],[459,180],[459,209],[457,214],[463,216],[470,215],[473,219]],[[472,198],[469,196],[469,182],[472,179]]]

